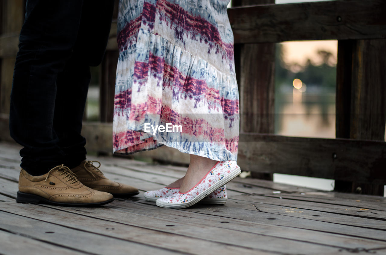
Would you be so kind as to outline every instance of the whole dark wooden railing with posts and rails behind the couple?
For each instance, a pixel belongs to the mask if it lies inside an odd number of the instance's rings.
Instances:
[[[9,91],[24,0],[0,0],[1,139],[6,134]],[[116,1],[117,2],[117,1]],[[337,0],[275,5],[274,0],[234,0],[229,19],[235,37],[240,89],[238,163],[257,177],[273,173],[335,180],[335,190],[383,194],[386,185],[386,1]],[[248,5],[248,6],[245,6]],[[12,8],[10,7],[12,6]],[[10,10],[15,13],[10,16]],[[19,20],[15,23],[15,20]],[[85,122],[89,151],[110,153],[115,67],[116,20],[101,65],[100,122]],[[12,31],[11,31],[12,30]],[[336,137],[274,135],[274,43],[337,39]],[[5,134],[6,133],[6,134]],[[163,147],[140,153],[169,162],[188,157]]]

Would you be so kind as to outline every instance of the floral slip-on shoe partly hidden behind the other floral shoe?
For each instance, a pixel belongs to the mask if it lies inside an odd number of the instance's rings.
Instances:
[[[161,190],[151,190],[145,192],[145,199],[147,201],[155,202],[158,198],[166,198],[168,196],[174,195],[179,191],[179,188],[169,188],[165,187]],[[218,188],[217,190],[210,193],[208,196],[203,198],[203,200],[198,203],[203,204],[215,204],[215,205],[224,205],[227,203],[227,188],[224,186]]]

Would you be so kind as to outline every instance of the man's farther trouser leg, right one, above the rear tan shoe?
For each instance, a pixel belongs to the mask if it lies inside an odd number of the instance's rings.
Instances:
[[[110,34],[114,1],[84,0],[71,59],[58,75],[54,130],[69,168],[86,159],[86,139],[81,136],[83,113],[90,83],[89,66],[102,62]]]

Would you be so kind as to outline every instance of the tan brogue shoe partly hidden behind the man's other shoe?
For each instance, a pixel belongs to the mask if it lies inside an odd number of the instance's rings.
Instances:
[[[99,163],[99,166],[93,165]],[[78,179],[86,186],[99,191],[105,191],[115,197],[127,198],[139,194],[137,188],[107,179],[100,171],[99,161],[83,161],[76,168],[71,169]]]

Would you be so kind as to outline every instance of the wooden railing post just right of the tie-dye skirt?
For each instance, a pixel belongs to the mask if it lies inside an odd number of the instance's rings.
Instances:
[[[234,6],[272,4],[274,0],[238,0]],[[235,45],[240,93],[240,133],[274,133],[275,44]],[[250,169],[253,171],[253,169]],[[253,177],[272,180],[272,174]]]

